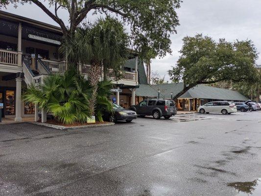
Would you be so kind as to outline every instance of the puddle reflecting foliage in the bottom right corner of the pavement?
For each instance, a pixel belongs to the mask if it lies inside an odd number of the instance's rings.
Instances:
[[[261,178],[252,182],[233,182],[227,185],[237,190],[236,196],[261,196]]]

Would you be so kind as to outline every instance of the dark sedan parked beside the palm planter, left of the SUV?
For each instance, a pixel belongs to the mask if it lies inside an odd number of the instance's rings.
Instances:
[[[123,107],[113,104],[113,113],[105,112],[103,115],[103,119],[105,121],[116,123],[117,121],[126,121],[128,123],[132,122],[132,120],[137,119],[136,112],[132,110],[124,109]]]

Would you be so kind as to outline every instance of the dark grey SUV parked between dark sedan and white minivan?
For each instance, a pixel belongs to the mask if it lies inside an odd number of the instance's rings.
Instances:
[[[137,105],[130,106],[129,109],[137,112],[142,117],[152,115],[154,119],[160,119],[161,117],[169,119],[177,114],[174,101],[169,99],[143,100]]]

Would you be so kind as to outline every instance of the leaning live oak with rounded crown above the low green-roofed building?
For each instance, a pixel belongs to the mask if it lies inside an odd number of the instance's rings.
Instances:
[[[173,82],[184,83],[183,90],[173,99],[198,84],[257,80],[254,65],[258,52],[251,40],[228,42],[220,39],[215,42],[202,34],[186,36],[180,53],[176,66],[168,71]]]

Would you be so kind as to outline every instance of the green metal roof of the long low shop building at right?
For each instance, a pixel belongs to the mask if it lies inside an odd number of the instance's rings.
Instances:
[[[170,98],[170,93],[173,92],[173,96],[182,91],[183,83],[170,83],[170,84],[158,84],[152,85],[155,90],[161,90],[162,98]],[[211,86],[197,85],[183,94],[180,98],[206,98],[206,99],[219,99],[219,100],[248,100],[245,96],[241,95],[237,91],[220,89]]]

